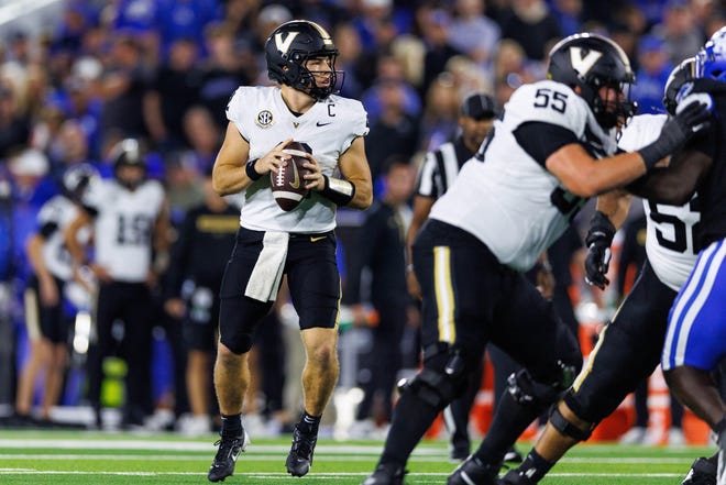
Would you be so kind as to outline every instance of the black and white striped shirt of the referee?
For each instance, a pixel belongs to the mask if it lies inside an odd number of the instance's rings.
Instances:
[[[432,199],[441,197],[453,184],[464,162],[472,156],[474,152],[466,148],[461,136],[427,153],[418,172],[416,195]]]

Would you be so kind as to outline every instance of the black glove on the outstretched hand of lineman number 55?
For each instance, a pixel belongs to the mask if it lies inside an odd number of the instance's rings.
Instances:
[[[691,140],[696,132],[707,125],[708,118],[711,118],[708,106],[700,101],[691,102],[670,118],[660,130],[658,139],[638,151],[646,163],[646,168],[652,168],[658,161]]]

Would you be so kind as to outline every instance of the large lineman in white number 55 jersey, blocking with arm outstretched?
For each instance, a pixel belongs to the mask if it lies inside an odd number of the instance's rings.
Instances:
[[[365,485],[402,484],[405,465],[438,412],[493,342],[522,364],[480,448],[449,484],[495,484],[509,445],[564,392],[582,365],[575,335],[531,285],[530,269],[592,196],[646,174],[707,117],[694,103],[638,152],[614,155],[616,124],[632,107],[634,75],[620,47],[576,34],[549,55],[548,80],[518,88],[502,120],[414,243],[424,295],[424,368],[397,404]]]

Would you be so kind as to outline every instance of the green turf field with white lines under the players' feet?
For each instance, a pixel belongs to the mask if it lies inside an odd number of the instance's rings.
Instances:
[[[215,454],[208,439],[176,434],[0,430],[0,484],[204,484]],[[320,440],[310,474],[285,472],[289,438],[255,439],[224,484],[360,484],[373,470],[382,443]],[[529,443],[519,443],[526,452]],[[694,458],[707,448],[587,444],[572,450],[543,485],[680,485]],[[421,443],[406,483],[446,484],[454,469],[444,441]]]

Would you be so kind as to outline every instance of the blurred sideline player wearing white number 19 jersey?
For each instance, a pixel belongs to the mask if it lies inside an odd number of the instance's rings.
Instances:
[[[84,211],[66,230],[65,241],[75,263],[87,266],[98,280],[95,342],[88,351],[88,399],[101,427],[100,394],[103,360],[114,350],[114,320],[123,321],[121,356],[127,361],[127,401],[122,426],[143,426],[152,411],[152,297],[158,262],[169,244],[168,205],[164,188],[146,178],[139,140],[127,139],[112,150],[114,177],[91,184]],[[94,228],[92,261],[77,241],[85,225]]]

